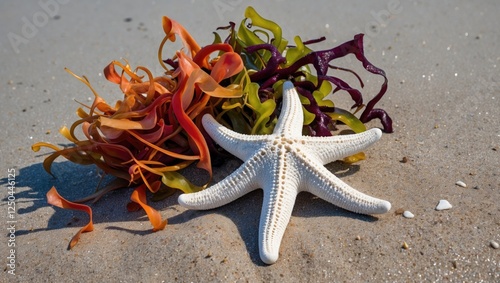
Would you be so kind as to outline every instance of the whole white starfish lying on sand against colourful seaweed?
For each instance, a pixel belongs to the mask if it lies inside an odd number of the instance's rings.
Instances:
[[[282,107],[271,135],[236,133],[212,116],[203,116],[203,126],[214,141],[245,163],[219,183],[179,196],[182,206],[205,210],[262,188],[259,251],[267,264],[278,260],[281,239],[301,191],[362,214],[381,214],[391,208],[389,202],[358,192],[323,166],[366,149],[380,139],[380,129],[331,137],[302,136],[302,105],[291,82],[283,84]]]

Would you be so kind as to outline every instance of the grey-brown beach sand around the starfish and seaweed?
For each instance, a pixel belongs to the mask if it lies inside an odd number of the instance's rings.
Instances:
[[[500,280],[500,250],[490,245],[500,242],[497,1],[165,2],[0,3],[0,281]],[[88,195],[98,172],[61,159],[54,179],[42,167],[49,151],[30,149],[37,141],[67,144],[59,127],[77,118],[74,100],[92,97],[63,68],[88,76],[113,101],[120,92],[102,76],[110,61],[126,58],[134,66],[161,71],[156,52],[162,15],[181,22],[203,45],[212,41],[214,28],[239,22],[247,5],[279,23],[286,38],[326,36],[318,49],[366,33],[367,57],[389,78],[378,107],[392,116],[395,132],[368,149],[366,160],[327,167],[354,188],[389,200],[391,211],[357,215],[300,194],[280,259],[267,266],[258,255],[260,191],[204,212],[180,207],[176,197],[154,203],[169,225],[152,233],[144,213],[126,211],[132,191],[126,189],[92,206],[95,230],[68,251],[68,241],[87,216],[48,206],[45,194],[54,185],[68,199]],[[353,59],[344,62],[357,66]],[[373,93],[379,79],[364,79],[366,91]],[[345,94],[335,99],[349,103]],[[380,124],[373,121],[369,127]],[[215,181],[239,164],[229,160],[215,168]],[[8,188],[13,170],[15,213]],[[459,180],[467,187],[457,186]],[[436,211],[441,199],[453,207]],[[398,209],[415,217],[404,218]],[[12,255],[15,262],[9,266]]]

